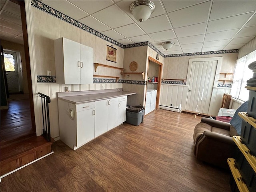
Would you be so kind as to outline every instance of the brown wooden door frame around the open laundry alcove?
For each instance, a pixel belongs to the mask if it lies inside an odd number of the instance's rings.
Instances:
[[[148,68],[149,68],[149,62],[152,61],[156,64],[159,65],[159,70],[158,70],[158,82],[157,82],[157,93],[156,93],[156,109],[159,108],[159,102],[160,102],[160,91],[161,91],[161,81],[162,81],[162,70],[163,70],[163,64],[159,62],[158,60],[148,56]],[[147,68],[147,76],[148,76],[148,68]],[[147,82],[147,80],[146,80]],[[147,90],[148,84],[146,84],[146,90]],[[146,105],[146,95],[147,91],[145,93],[145,105]]]

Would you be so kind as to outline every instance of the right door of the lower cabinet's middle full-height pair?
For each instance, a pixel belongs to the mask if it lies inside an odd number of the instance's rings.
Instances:
[[[109,99],[108,104],[108,130],[118,125],[118,97]]]

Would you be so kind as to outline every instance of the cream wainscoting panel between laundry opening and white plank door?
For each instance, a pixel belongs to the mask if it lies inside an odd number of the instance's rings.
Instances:
[[[181,109],[186,109],[186,100],[188,95],[188,86],[178,86],[178,85],[161,85],[160,94],[160,105],[180,107]]]

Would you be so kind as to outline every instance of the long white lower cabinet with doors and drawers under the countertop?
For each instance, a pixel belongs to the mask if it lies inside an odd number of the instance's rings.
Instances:
[[[126,120],[127,96],[84,104],[58,100],[60,140],[73,150]]]

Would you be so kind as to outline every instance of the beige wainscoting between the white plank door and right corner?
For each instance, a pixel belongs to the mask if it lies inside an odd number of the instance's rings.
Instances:
[[[217,116],[221,108],[223,94],[230,94],[231,88],[213,88],[209,106],[209,115]]]

